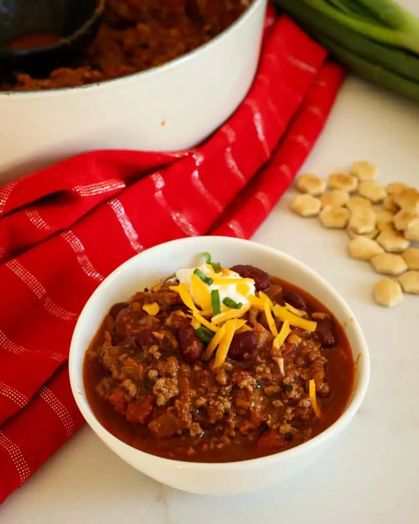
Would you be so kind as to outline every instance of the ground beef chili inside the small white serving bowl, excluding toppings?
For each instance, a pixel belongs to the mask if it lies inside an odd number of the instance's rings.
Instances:
[[[86,391],[96,416],[131,445],[178,460],[242,460],[312,438],[343,411],[353,361],[333,315],[301,290],[271,278],[267,293],[272,300],[284,302],[288,291],[304,299],[306,318],[327,320],[335,345],[325,345],[323,326],[314,332],[292,328],[280,350],[272,352],[264,313],[251,308],[245,318],[258,337],[256,352],[246,359],[227,355],[214,369],[213,359],[202,361],[201,341],[195,351],[188,310],[168,283],[114,307],[85,359]],[[296,301],[294,294],[287,296]],[[160,309],[150,315],[143,306],[153,302]],[[277,321],[278,330],[281,325]],[[199,357],[191,358],[195,354]],[[310,380],[320,419],[309,395]]]

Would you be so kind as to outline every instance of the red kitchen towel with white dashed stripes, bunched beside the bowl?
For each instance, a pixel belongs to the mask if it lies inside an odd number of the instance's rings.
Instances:
[[[104,277],[173,238],[250,236],[313,147],[344,73],[290,19],[269,26],[249,94],[202,146],[95,151],[0,189],[0,502],[82,424],[66,362]]]

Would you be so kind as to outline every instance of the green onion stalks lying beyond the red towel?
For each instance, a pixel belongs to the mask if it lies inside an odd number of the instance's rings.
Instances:
[[[391,0],[274,0],[347,69],[419,101],[419,19]]]

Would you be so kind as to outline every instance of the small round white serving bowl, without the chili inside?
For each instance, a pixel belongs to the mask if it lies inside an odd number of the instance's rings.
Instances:
[[[308,291],[323,302],[345,326],[354,359],[358,359],[355,387],[345,412],[312,440],[275,455],[242,462],[203,464],[163,459],[141,452],[116,439],[96,420],[83,385],[83,358],[98,326],[115,302],[127,300],[138,289],[158,282],[177,268],[189,267],[197,254],[209,251],[224,266],[252,264]],[[74,398],[93,431],[137,470],[191,493],[227,495],[252,492],[281,481],[307,467],[327,449],[357,413],[366,394],[370,360],[368,347],[345,300],[314,271],[270,247],[229,237],[182,238],[146,250],[117,268],[86,303],[74,330],[70,348],[70,381]],[[257,479],[257,482],[255,482]]]

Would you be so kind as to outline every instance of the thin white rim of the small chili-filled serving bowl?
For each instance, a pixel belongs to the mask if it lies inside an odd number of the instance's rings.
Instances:
[[[143,252],[138,253],[137,255],[134,255],[133,257],[126,260],[123,264],[118,266],[114,271],[112,271],[111,274],[109,274],[101,283],[100,285],[95,289],[95,291],[92,293],[91,297],[87,302],[85,303],[79,319],[75,325],[71,344],[70,344],[70,354],[69,354],[69,374],[70,374],[70,385],[73,397],[76,401],[76,404],[78,408],[80,409],[83,418],[89,424],[91,429],[99,436],[101,440],[102,436],[101,433],[105,433],[106,437],[118,445],[122,445],[123,447],[126,447],[129,450],[132,450],[136,454],[146,455],[148,460],[155,460],[159,463],[164,464],[170,464],[173,467],[176,468],[182,468],[190,469],[190,468],[197,468],[199,467],[202,470],[231,470],[232,468],[235,470],[241,470],[246,469],[249,467],[249,465],[252,466],[263,466],[266,463],[272,462],[272,461],[281,461],[281,460],[291,460],[294,456],[298,456],[300,454],[305,453],[306,451],[310,451],[312,448],[322,444],[322,442],[326,441],[330,436],[333,436],[334,433],[336,433],[339,429],[344,429],[346,425],[350,422],[350,420],[355,416],[357,411],[359,410],[363,399],[366,396],[369,381],[370,381],[370,374],[371,374],[371,365],[370,365],[370,356],[369,356],[369,349],[368,344],[365,339],[365,336],[363,335],[363,332],[361,330],[361,327],[352,312],[351,308],[345,301],[343,297],[340,296],[340,294],[325,280],[322,276],[318,275],[313,269],[308,267],[306,264],[301,262],[300,260],[282,252],[279,249],[275,249],[273,247],[260,244],[258,242],[245,240],[241,238],[235,238],[235,237],[225,237],[225,236],[208,236],[205,237],[207,239],[212,239],[211,242],[216,241],[222,241],[222,242],[229,242],[233,245],[248,245],[250,249],[256,249],[261,252],[276,256],[278,258],[281,258],[286,263],[289,263],[299,269],[300,271],[307,274],[310,278],[317,280],[325,289],[326,291],[337,301],[340,303],[340,306],[343,308],[345,313],[347,314],[349,319],[353,319],[348,324],[351,325],[351,329],[354,330],[354,334],[356,335],[358,341],[357,344],[359,346],[359,356],[356,361],[356,381],[354,384],[354,388],[352,389],[352,396],[345,408],[345,411],[340,415],[340,417],[328,428],[326,428],[324,431],[319,433],[318,435],[314,436],[312,439],[303,442],[302,444],[299,444],[295,447],[292,447],[289,450],[280,451],[278,453],[273,453],[271,455],[266,455],[262,457],[258,457],[256,459],[248,459],[243,461],[233,461],[233,462],[189,462],[189,461],[179,461],[174,459],[167,459],[165,457],[161,457],[158,455],[153,455],[152,453],[147,453],[144,451],[141,451],[137,449],[136,447],[130,446],[129,444],[126,444],[122,440],[119,440],[116,438],[112,433],[110,433],[106,428],[103,427],[103,425],[97,420],[95,417],[92,409],[89,406],[89,402],[87,402],[87,399],[85,400],[85,403],[88,407],[86,410],[84,405],[81,403],[81,395],[76,387],[75,380],[76,377],[80,378],[83,381],[83,367],[77,366],[76,370],[73,369],[75,367],[75,363],[73,355],[76,351],[76,339],[78,337],[78,331],[81,329],[82,323],[84,323],[84,317],[86,316],[86,312],[91,307],[91,304],[96,301],[98,297],[101,296],[103,290],[107,287],[107,285],[113,281],[115,278],[117,278],[120,274],[122,274],[126,269],[131,266],[135,265],[135,260],[140,258],[144,253],[152,253],[153,251],[156,251],[158,249],[161,249],[163,246],[170,247],[170,246],[178,246],[179,244],[193,244],[193,242],[196,242],[197,238],[203,238],[203,236],[195,236],[195,237],[185,237],[185,238],[178,238],[169,242],[164,242],[162,244],[158,244],[157,246],[153,246],[149,249],[145,249]],[[352,346],[351,346],[352,348]],[[82,360],[83,362],[83,360]],[[106,441],[104,441],[105,444],[110,447]],[[112,448],[111,448],[112,449]],[[114,451],[112,449],[112,451]],[[114,451],[115,453],[115,451]]]

